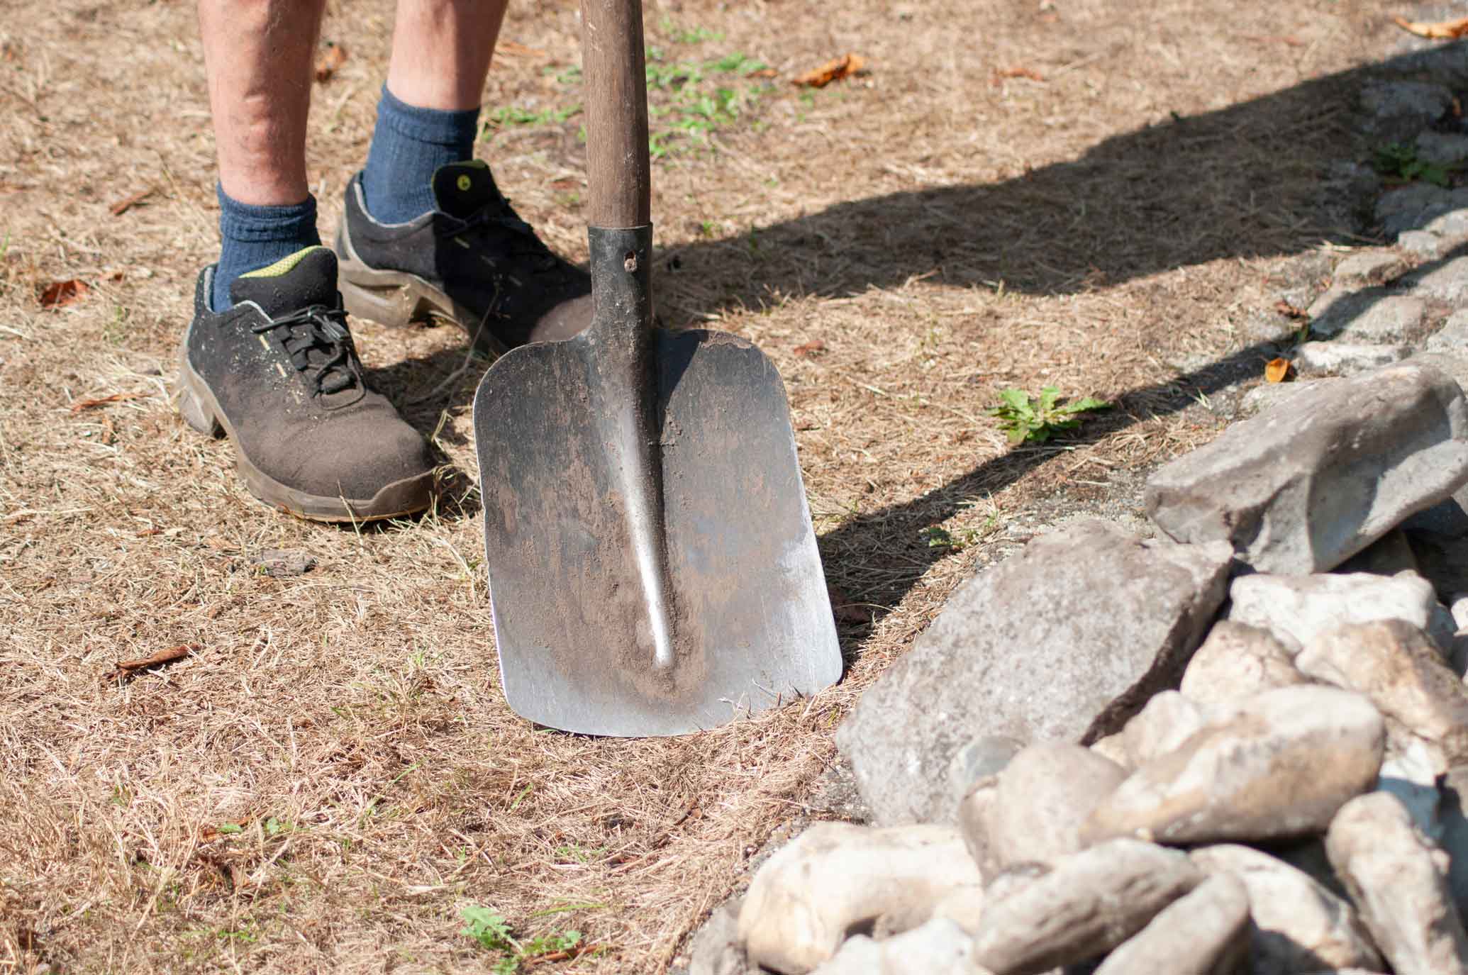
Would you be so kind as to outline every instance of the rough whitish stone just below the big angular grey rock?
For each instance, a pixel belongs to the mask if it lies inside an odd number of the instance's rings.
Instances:
[[[1437,592],[1417,573],[1240,576],[1229,587],[1229,620],[1262,627],[1293,652],[1346,623],[1405,620],[1434,627]],[[1296,664],[1298,667],[1298,664]]]

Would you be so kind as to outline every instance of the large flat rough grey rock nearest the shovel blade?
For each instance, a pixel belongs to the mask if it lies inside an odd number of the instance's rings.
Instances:
[[[975,736],[1082,744],[1174,687],[1223,599],[1229,545],[1105,521],[1033,539],[960,587],[837,730],[878,825],[951,822]]]

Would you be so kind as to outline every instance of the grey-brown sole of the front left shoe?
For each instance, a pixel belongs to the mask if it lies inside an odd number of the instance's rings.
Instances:
[[[404,477],[390,485],[385,485],[376,495],[366,499],[332,498],[327,495],[310,495],[297,490],[270,477],[254,465],[244,449],[235,429],[219,408],[219,401],[208,391],[208,385],[188,364],[185,354],[179,355],[179,382],[175,388],[175,401],[179,416],[191,427],[206,436],[229,438],[235,448],[235,464],[241,479],[251,495],[266,502],[272,508],[294,514],[310,521],[379,521],[382,518],[398,518],[402,515],[424,511],[433,502],[433,473]]]

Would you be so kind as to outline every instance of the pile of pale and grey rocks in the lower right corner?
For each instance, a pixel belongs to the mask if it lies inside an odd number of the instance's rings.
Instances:
[[[872,825],[777,852],[694,971],[1468,975],[1468,599],[1398,527],[1465,482],[1405,363],[1158,470],[1164,539],[1035,539],[840,728]]]

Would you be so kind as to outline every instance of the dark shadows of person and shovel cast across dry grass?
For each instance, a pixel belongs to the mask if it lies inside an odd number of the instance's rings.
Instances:
[[[1282,257],[1321,241],[1362,244],[1362,204],[1374,189],[1343,163],[1368,154],[1356,94],[1378,78],[1468,87],[1468,44],[1403,54],[1299,84],[1198,116],[1108,138],[1076,160],[997,184],[935,186],[840,203],[757,228],[752,235],[678,245],[659,254],[656,292],[672,325],[703,313],[759,307],[778,295],[856,295],[915,275],[951,286],[1038,295],[1076,294],[1218,258]],[[753,245],[752,245],[753,241]],[[1424,269],[1428,270],[1430,267]],[[1166,416],[1257,376],[1277,347],[1260,342],[1164,382],[1130,389],[1119,408],[1089,421],[1069,445]],[[461,369],[462,351],[380,370],[388,388],[423,388]],[[467,386],[437,395],[429,411],[462,407]],[[421,416],[420,416],[421,420]],[[420,423],[421,424],[421,423]],[[1054,451],[1016,449],[909,502],[850,518],[821,537],[832,584],[854,602],[895,605],[944,557],[923,526],[956,514],[975,495],[1000,490]],[[457,502],[470,517],[473,502]],[[843,565],[898,552],[912,571],[865,584]],[[881,611],[878,611],[881,614]],[[846,627],[844,643],[869,631]]]

